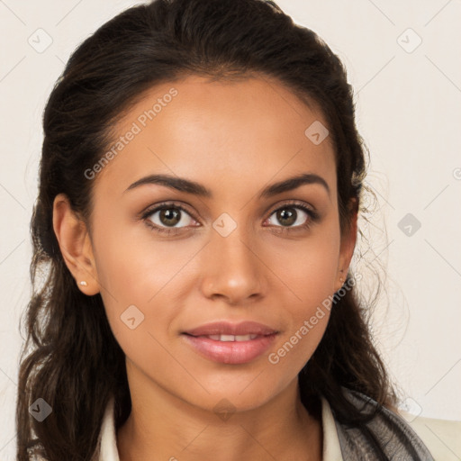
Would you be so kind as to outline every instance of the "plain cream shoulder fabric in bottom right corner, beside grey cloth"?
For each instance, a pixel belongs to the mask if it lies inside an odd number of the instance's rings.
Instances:
[[[429,448],[434,459],[455,461],[461,458],[461,421],[425,418],[402,410],[398,412]]]

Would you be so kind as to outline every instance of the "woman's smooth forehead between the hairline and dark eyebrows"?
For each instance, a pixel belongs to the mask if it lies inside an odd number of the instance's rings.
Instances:
[[[303,172],[323,176],[333,192],[330,137],[310,136],[310,127],[325,125],[319,110],[273,78],[185,77],[153,86],[123,115],[96,182],[125,190],[141,176],[167,173],[219,183],[225,193],[225,185],[235,191]]]

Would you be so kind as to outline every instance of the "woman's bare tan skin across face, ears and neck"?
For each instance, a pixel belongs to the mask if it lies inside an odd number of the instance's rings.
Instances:
[[[268,77],[210,82],[186,77],[153,87],[117,124],[122,136],[174,86],[176,97],[98,173],[91,232],[65,195],[54,203],[54,229],[69,270],[88,295],[101,293],[126,355],[132,410],[117,432],[122,461],[320,460],[321,421],[300,400],[297,375],[318,346],[329,312],[275,365],[276,352],[322,301],[339,290],[356,242],[339,229],[337,177],[330,138],[315,145],[304,131],[322,114]],[[267,185],[301,172],[319,184],[259,199]],[[162,185],[126,189],[141,177],[170,174],[212,191],[197,197]],[[295,223],[277,219],[295,200]],[[151,205],[185,206],[176,236]],[[284,206],[285,205],[285,206]],[[226,212],[237,228],[223,237],[212,223]],[[301,225],[310,222],[308,229]],[[294,229],[297,226],[297,230]],[[292,228],[285,233],[280,230]],[[341,272],[342,271],[342,272]],[[134,304],[144,321],[121,321]],[[181,332],[210,321],[259,321],[280,331],[267,353],[247,364],[213,362]],[[233,408],[221,419],[215,405]]]

